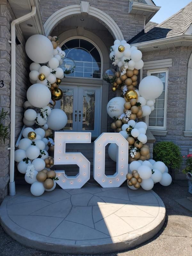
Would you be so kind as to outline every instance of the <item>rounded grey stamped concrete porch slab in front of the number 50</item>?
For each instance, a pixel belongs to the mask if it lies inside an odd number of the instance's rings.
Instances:
[[[29,247],[60,253],[105,253],[132,248],[162,227],[165,207],[152,190],[57,188],[35,197],[30,186],[17,188],[0,207],[1,225]]]

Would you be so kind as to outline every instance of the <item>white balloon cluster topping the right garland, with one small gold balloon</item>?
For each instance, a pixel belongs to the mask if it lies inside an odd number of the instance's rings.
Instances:
[[[142,52],[137,50],[137,47],[127,44],[125,40],[115,40],[114,45],[110,47],[109,58],[113,61],[113,64],[121,68],[124,66],[130,70],[134,68],[140,69],[143,67]]]

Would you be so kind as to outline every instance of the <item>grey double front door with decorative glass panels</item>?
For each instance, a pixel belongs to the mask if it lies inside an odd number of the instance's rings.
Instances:
[[[100,135],[100,86],[61,85],[63,98],[56,102],[68,121],[63,128],[71,132],[91,132],[92,137]]]

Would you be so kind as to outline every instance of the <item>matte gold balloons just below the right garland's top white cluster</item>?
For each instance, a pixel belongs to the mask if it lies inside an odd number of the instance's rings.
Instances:
[[[120,45],[121,46],[121,45]],[[120,47],[119,46],[119,47]],[[124,66],[121,67],[123,71]],[[129,70],[126,69],[126,73],[121,75],[121,71],[115,73],[116,81],[112,84],[112,91],[115,92],[117,89],[123,90],[123,86],[127,85],[127,90],[133,90],[137,85],[137,75],[139,73],[138,69]]]

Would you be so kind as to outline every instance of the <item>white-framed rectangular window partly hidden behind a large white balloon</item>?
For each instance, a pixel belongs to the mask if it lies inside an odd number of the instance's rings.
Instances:
[[[146,117],[146,122],[151,129],[166,130],[168,69],[148,71],[147,75],[160,78],[164,88],[162,94],[156,99],[155,109]]]

